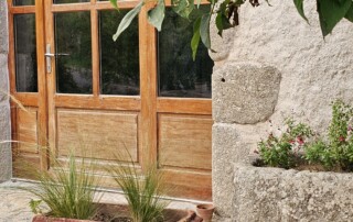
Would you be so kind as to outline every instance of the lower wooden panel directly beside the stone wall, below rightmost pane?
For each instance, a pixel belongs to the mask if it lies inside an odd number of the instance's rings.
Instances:
[[[160,167],[211,170],[212,118],[160,114]]]

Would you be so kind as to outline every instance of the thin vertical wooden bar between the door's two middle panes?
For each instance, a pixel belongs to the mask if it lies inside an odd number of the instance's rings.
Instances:
[[[98,27],[98,11],[90,10],[90,29],[92,29],[92,74],[93,74],[93,95],[99,96],[99,27]]]

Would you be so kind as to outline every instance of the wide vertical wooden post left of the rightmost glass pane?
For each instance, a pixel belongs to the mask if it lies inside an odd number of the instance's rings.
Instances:
[[[139,16],[141,113],[139,151],[141,166],[157,164],[157,53],[156,30],[148,23],[145,5]]]

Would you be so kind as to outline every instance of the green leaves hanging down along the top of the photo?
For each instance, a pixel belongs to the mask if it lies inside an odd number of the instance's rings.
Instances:
[[[156,2],[156,7],[148,11],[148,21],[158,31],[161,31],[164,20],[165,2],[164,0],[140,0],[140,2],[129,11],[121,20],[116,34],[113,36],[116,41],[119,35],[130,25],[133,18],[141,11],[146,2]],[[191,38],[191,48],[193,58],[195,58],[199,43],[202,42],[207,48],[212,49],[210,37],[211,18],[215,15],[215,25],[218,35],[222,36],[224,30],[231,29],[239,24],[239,8],[246,2],[253,7],[258,7],[260,0],[207,0],[210,2],[210,12],[202,13],[199,10],[201,0],[171,0],[172,9],[176,14],[185,20],[191,19],[191,14],[196,15],[193,22],[193,36]],[[118,9],[118,0],[110,0],[111,4]],[[269,4],[269,0],[263,0]],[[308,22],[303,10],[304,0],[293,0],[293,4],[299,14]],[[280,3],[280,2],[279,2]],[[345,18],[353,22],[353,2],[352,0],[317,0],[317,11],[319,14],[322,35],[327,36],[333,27]]]

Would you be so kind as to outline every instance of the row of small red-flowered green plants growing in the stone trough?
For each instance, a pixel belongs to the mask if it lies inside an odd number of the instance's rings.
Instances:
[[[287,131],[280,136],[269,134],[258,143],[263,164],[295,168],[301,164],[321,166],[325,170],[353,171],[353,108],[341,100],[332,103],[332,120],[328,138],[315,134],[304,123],[286,121]]]

